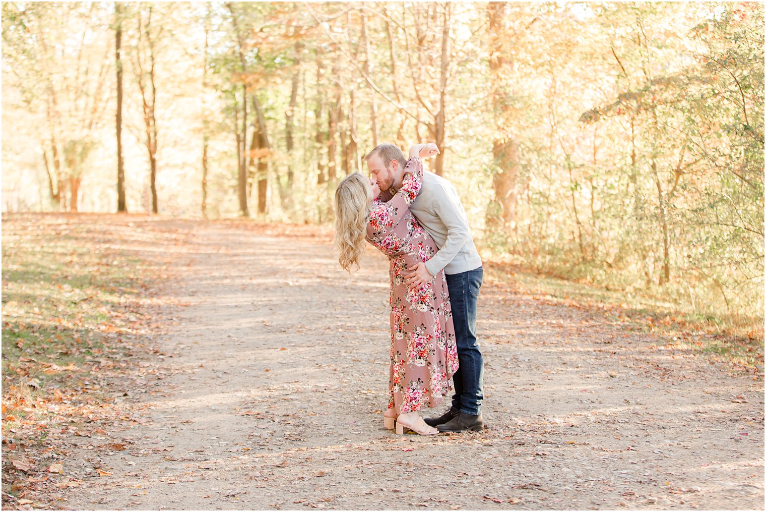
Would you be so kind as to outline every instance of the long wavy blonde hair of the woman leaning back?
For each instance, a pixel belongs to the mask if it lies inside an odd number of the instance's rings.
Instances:
[[[351,273],[359,267],[365,253],[367,214],[372,202],[372,187],[360,172],[352,172],[338,184],[335,197],[336,247],[340,249],[340,266]]]

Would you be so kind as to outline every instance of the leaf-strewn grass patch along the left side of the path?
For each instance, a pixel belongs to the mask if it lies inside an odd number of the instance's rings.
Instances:
[[[125,415],[113,405],[110,379],[131,369],[125,361],[136,355],[133,339],[146,320],[143,281],[152,270],[129,251],[133,235],[142,234],[129,221],[3,217],[4,504],[6,496],[55,493],[44,468],[65,457],[60,441],[73,432],[104,432]],[[12,460],[33,469],[21,471]],[[51,479],[34,484],[29,474]]]

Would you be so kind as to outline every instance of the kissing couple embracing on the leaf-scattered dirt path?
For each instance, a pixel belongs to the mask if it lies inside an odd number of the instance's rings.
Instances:
[[[422,159],[438,153],[434,143],[416,144],[404,159],[394,144],[380,144],[365,156],[370,178],[352,172],[335,195],[341,267],[358,268],[365,240],[390,261],[391,366],[383,419],[397,434],[484,428],[484,363],[476,341],[483,267],[457,191],[424,172]],[[421,417],[421,409],[439,405],[452,389],[447,412]]]

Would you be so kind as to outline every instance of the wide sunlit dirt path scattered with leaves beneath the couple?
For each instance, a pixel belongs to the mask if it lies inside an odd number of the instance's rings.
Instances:
[[[145,425],[83,451],[111,474],[67,507],[763,507],[762,381],[487,282],[489,428],[396,436],[380,254],[348,277],[323,240],[176,224],[194,231],[166,287],[184,305],[163,310],[155,377],[126,398]]]

